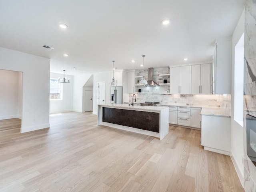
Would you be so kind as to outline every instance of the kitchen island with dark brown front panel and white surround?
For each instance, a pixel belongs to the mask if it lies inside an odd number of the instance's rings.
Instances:
[[[164,138],[169,132],[168,107],[99,104],[98,125]]]

